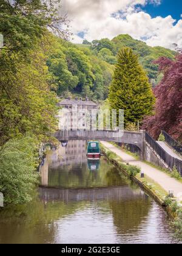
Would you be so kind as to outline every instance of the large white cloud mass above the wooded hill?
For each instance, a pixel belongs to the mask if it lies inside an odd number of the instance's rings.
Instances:
[[[61,12],[68,13],[71,20],[74,42],[84,32],[89,41],[101,38],[112,39],[119,34],[129,34],[144,40],[150,46],[173,48],[173,43],[182,47],[182,20],[175,23],[172,16],[152,18],[136,9],[136,4],[160,4],[161,0],[62,0]]]

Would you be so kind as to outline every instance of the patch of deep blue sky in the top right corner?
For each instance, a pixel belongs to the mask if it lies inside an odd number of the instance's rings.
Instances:
[[[163,18],[171,15],[175,20],[180,20],[182,15],[182,1],[181,0],[161,0],[161,4],[147,4],[142,8],[149,13],[152,18],[162,16]]]

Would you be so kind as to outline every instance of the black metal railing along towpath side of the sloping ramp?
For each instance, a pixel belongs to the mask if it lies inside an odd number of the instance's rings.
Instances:
[[[170,169],[173,169],[174,166],[177,168],[182,176],[182,161],[172,157],[163,148],[146,132],[145,139],[147,143],[153,148],[155,152],[163,159],[163,161],[169,166]]]

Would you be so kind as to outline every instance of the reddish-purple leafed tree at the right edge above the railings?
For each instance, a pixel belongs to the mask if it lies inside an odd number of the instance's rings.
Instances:
[[[155,61],[164,77],[154,90],[155,115],[144,120],[143,128],[155,139],[161,130],[182,141],[182,51],[175,60],[161,57]]]

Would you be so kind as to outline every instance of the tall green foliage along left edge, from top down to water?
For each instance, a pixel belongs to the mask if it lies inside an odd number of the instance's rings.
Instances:
[[[7,203],[31,199],[36,151],[41,141],[51,140],[57,125],[56,93],[46,65],[52,37],[47,27],[63,33],[55,2],[0,1],[0,191]]]

